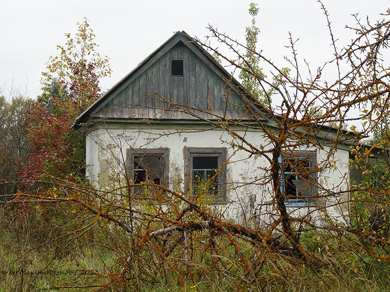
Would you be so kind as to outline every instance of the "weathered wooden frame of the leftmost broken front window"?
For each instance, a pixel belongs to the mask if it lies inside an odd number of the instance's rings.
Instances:
[[[135,169],[134,159],[135,157],[144,157],[144,156],[153,156],[160,155],[161,161],[161,174],[160,185],[169,185],[169,148],[137,148],[137,149],[127,149],[126,151],[126,176],[130,183],[135,183],[135,171],[141,171],[142,168]],[[145,169],[147,172],[147,170]],[[147,176],[150,178],[150,176]],[[149,182],[146,179],[146,182]],[[140,199],[146,199],[143,197],[143,187],[135,187],[134,194],[138,194],[137,197]],[[140,195],[139,195],[140,194]]]

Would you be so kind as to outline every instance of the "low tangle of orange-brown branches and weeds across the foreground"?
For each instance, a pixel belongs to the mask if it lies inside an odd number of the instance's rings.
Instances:
[[[61,228],[61,233],[45,234],[42,243],[22,249],[21,256],[9,262],[16,263],[18,268],[21,263],[27,265],[35,249],[49,246],[55,250],[51,261],[63,261],[67,255],[76,257],[78,250],[100,248],[100,255],[109,254],[116,259],[103,256],[104,266],[95,268],[87,279],[82,274],[54,278],[50,286],[148,290],[180,285],[203,290],[216,282],[218,291],[282,288],[287,284],[297,287],[301,281],[315,287],[317,283],[311,283],[311,277],[324,279],[318,287],[322,290],[331,288],[327,280],[348,282],[350,274],[361,275],[361,283],[369,286],[366,274],[370,270],[381,273],[376,269],[377,259],[387,261],[380,256],[385,251],[383,246],[371,243],[376,253],[370,252],[359,233],[348,226],[306,227],[300,232],[304,259],[277,225],[268,229],[239,225],[224,219],[207,199],[200,197],[193,202],[165,186],[146,185],[151,199],[137,201],[132,209],[128,207],[126,184],[116,191],[103,192],[57,182],[46,193],[16,194],[13,203],[23,205],[23,210],[14,214],[9,226],[21,228],[27,219],[18,216],[25,216],[30,208],[37,210],[37,206],[41,212],[53,208],[66,212],[66,216],[57,224],[50,224],[50,232]],[[59,215],[53,218],[61,219]],[[31,222],[26,227],[30,232],[39,229]],[[62,263],[63,267],[67,266]],[[386,271],[379,276],[385,276]]]

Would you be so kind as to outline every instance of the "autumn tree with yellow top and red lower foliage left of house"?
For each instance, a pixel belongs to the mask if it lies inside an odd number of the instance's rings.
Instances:
[[[42,73],[43,93],[26,116],[32,148],[20,175],[25,179],[55,176],[73,181],[83,176],[85,141],[71,128],[74,119],[101,93],[99,81],[111,73],[107,57],[100,57],[88,20],[78,22],[75,36],[65,34],[59,55],[50,56]]]

